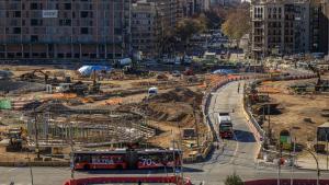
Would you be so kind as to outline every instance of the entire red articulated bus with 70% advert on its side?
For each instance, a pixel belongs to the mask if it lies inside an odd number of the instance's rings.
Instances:
[[[73,170],[124,170],[180,167],[181,150],[95,150],[72,152]]]

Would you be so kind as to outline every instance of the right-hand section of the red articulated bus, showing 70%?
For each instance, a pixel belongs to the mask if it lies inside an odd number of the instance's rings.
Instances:
[[[180,150],[144,150],[138,151],[137,169],[180,167]]]

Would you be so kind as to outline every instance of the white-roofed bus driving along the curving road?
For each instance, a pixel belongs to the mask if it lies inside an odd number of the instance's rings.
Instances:
[[[218,125],[219,125],[219,137],[220,138],[232,138],[234,130],[229,113],[218,113]]]

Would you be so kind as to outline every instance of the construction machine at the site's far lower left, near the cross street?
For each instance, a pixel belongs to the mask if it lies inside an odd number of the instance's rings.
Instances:
[[[12,128],[9,129],[8,138],[9,138],[9,144],[5,147],[5,151],[8,152],[15,152],[22,150],[22,128]]]

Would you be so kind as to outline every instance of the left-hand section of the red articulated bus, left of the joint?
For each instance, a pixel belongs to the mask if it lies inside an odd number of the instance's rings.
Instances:
[[[75,170],[127,169],[126,150],[75,151]]]

